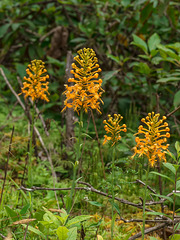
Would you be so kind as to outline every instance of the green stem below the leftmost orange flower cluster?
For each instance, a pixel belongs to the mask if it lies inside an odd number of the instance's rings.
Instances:
[[[30,143],[29,143],[28,182],[29,182],[30,187],[33,186],[33,175],[32,175],[33,146],[32,146],[32,142],[33,142],[34,118],[35,118],[35,102],[33,103],[32,122],[31,122],[31,130],[30,130]]]

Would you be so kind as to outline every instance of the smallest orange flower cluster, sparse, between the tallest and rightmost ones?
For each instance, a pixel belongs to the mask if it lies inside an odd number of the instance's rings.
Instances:
[[[104,129],[106,133],[110,133],[111,136],[104,135],[104,142],[105,144],[107,141],[112,142],[112,146],[121,139],[120,132],[127,132],[126,124],[119,125],[123,117],[120,114],[114,114],[114,118],[111,115],[108,115],[108,122],[106,120],[103,121],[105,124]]]

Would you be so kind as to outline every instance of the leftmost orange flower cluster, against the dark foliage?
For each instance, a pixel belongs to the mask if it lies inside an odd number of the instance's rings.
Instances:
[[[23,83],[23,87],[21,88],[22,92],[20,94],[24,93],[25,98],[28,96],[31,97],[33,102],[39,98],[49,102],[46,96],[46,93],[49,94],[49,82],[47,82],[49,75],[44,75],[44,73],[47,72],[44,64],[45,63],[41,60],[33,60],[31,64],[28,65],[29,68],[26,69],[26,73],[29,77],[24,77],[24,80],[27,82]]]

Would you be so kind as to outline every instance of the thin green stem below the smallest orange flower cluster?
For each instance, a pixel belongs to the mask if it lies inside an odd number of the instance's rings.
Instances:
[[[115,172],[114,172],[114,164],[115,161],[115,146],[113,146],[112,149],[112,175],[111,175],[111,194],[112,194],[112,220],[111,220],[111,239],[113,239],[113,230],[114,230],[114,178],[115,178]]]

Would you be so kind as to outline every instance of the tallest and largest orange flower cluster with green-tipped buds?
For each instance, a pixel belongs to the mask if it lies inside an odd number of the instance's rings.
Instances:
[[[73,86],[65,84],[66,100],[64,101],[65,107],[73,108],[77,113],[80,109],[84,109],[85,112],[88,109],[96,109],[100,112],[100,102],[103,89],[101,88],[102,79],[98,79],[99,68],[98,59],[96,58],[95,52],[90,48],[84,48],[79,50],[74,60],[77,62],[72,64],[71,73],[74,78],[69,78],[68,82],[73,82]]]

